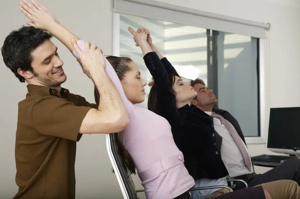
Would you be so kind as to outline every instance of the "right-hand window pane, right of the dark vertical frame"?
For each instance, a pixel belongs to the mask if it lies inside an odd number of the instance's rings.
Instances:
[[[219,32],[218,107],[230,112],[245,136],[258,136],[257,38]]]

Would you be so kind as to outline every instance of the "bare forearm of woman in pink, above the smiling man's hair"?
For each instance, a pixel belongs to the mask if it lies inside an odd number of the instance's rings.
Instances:
[[[74,38],[76,41],[80,39],[60,23],[51,24],[47,31],[62,42],[71,52],[73,51],[71,39]]]

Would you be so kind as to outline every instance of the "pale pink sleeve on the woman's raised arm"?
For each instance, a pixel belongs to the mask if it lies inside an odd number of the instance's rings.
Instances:
[[[84,50],[84,40],[80,39],[77,41],[78,46],[80,47],[81,50]],[[80,61],[78,54],[75,52],[75,50],[73,50],[73,55]],[[107,73],[107,75],[110,77],[111,81],[113,82],[113,84],[115,85],[116,89],[118,90],[123,103],[126,107],[127,113],[131,113],[134,105],[127,99],[122,84],[119,80],[119,78],[117,77],[117,74],[115,73],[113,67],[111,66],[111,64],[109,63],[109,61],[104,57],[105,59],[105,71]]]

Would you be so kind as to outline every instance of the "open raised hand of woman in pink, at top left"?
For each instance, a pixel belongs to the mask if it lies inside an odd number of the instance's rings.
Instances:
[[[27,25],[49,31],[53,24],[59,23],[54,14],[36,0],[21,0],[19,3],[21,12],[31,20]]]

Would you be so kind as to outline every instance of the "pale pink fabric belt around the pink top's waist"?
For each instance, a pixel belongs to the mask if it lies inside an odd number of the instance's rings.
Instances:
[[[183,162],[184,162],[183,154],[180,151],[179,154],[172,155],[162,160],[158,159],[158,162],[156,162],[154,165],[137,174],[140,177],[141,181],[145,181],[169,169],[170,167],[176,166]]]

